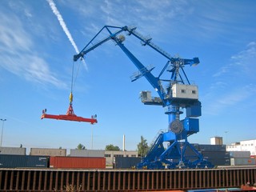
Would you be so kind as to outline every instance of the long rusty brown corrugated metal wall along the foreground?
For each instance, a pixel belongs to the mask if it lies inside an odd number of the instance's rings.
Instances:
[[[213,188],[216,190],[210,191],[217,191],[219,188],[240,187],[246,182],[254,183],[255,175],[255,166],[202,170],[1,169],[0,190],[64,191],[70,186],[73,191],[88,192],[206,191]]]

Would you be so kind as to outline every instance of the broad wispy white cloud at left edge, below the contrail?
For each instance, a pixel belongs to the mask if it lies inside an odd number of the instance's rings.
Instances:
[[[50,71],[46,61],[34,52],[34,42],[19,18],[11,14],[0,14],[0,18],[0,65],[31,82],[66,87]]]

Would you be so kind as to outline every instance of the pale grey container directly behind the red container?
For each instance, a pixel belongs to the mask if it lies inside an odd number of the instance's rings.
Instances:
[[[70,157],[104,158],[105,150],[70,150]]]

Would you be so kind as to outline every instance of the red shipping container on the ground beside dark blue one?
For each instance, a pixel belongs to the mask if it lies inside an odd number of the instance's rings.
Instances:
[[[67,169],[105,169],[106,158],[50,157],[50,167]]]

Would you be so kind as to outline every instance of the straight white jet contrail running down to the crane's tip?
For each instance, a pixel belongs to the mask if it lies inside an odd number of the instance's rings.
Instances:
[[[72,38],[72,35],[70,34],[70,30],[66,27],[66,23],[64,22],[64,20],[62,18],[62,14],[59,13],[53,0],[47,0],[47,2],[50,5],[50,9],[53,10],[54,14],[58,18],[58,22],[62,26],[62,30],[65,32],[67,38],[69,38],[72,46],[74,46],[74,50],[76,51],[77,54],[79,54],[78,46],[75,44],[74,39]],[[88,70],[86,62],[84,60],[82,60],[82,62],[84,62],[86,70]]]

